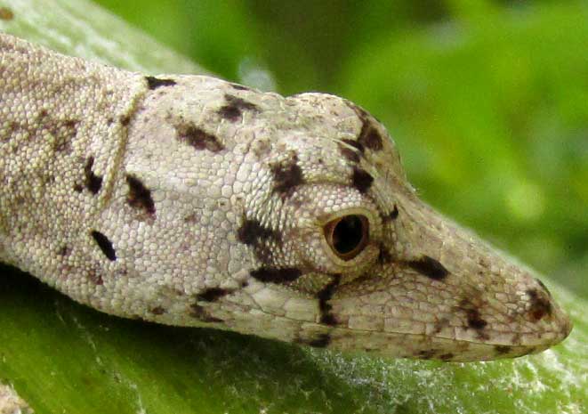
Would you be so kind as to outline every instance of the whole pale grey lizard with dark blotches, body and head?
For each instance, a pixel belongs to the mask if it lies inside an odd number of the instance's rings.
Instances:
[[[568,336],[531,272],[417,199],[350,101],[145,77],[7,35],[0,72],[0,259],[78,302],[445,361]]]

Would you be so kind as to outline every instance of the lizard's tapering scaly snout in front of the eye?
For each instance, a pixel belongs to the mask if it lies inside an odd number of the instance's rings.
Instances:
[[[393,356],[479,361],[537,353],[568,336],[568,315],[536,276],[417,199],[399,200],[381,267],[342,285],[331,342]],[[391,242],[386,243],[390,246]]]

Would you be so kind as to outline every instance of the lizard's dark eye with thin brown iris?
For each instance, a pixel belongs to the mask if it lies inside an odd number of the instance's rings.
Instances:
[[[323,226],[326,243],[336,256],[349,261],[363,251],[369,241],[369,221],[365,215],[343,215]]]

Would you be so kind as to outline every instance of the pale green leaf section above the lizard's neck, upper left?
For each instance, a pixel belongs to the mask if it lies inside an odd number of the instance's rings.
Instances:
[[[206,73],[85,0],[0,1],[0,7],[12,12],[11,19],[0,20],[0,30],[60,53],[149,74]]]

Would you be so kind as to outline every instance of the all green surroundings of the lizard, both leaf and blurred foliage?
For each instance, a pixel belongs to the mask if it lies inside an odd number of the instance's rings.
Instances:
[[[223,77],[358,101],[389,126],[424,199],[580,291],[584,6],[387,4],[141,2],[128,19]],[[14,12],[0,29],[62,53],[147,73],[198,70],[83,0],[0,6]],[[588,398],[588,305],[555,283],[575,322],[566,341],[462,364],[128,321],[14,269],[0,276],[0,382],[40,414],[580,414]]]

